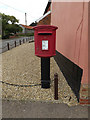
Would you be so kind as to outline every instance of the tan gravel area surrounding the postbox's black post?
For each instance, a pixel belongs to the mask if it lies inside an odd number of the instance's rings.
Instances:
[[[77,105],[77,99],[60,72],[54,58],[50,59],[51,88],[18,87],[2,84],[2,98],[9,100],[45,101]],[[54,74],[59,75],[59,99],[54,100]],[[25,43],[2,54],[2,81],[17,85],[41,84],[41,61],[34,54],[34,43]],[[0,83],[1,84],[1,83]],[[71,99],[70,99],[71,98]]]

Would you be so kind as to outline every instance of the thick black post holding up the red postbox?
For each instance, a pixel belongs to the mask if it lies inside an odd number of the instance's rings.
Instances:
[[[41,87],[50,88],[50,57],[41,58]]]

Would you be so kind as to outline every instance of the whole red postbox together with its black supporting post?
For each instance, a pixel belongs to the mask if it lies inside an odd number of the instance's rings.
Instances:
[[[56,55],[56,29],[51,25],[34,27],[35,55],[41,57],[42,88],[50,88],[50,57]]]

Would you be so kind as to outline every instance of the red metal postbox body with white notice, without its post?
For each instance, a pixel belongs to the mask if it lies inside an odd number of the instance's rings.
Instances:
[[[35,55],[39,57],[52,57],[56,55],[56,29],[51,25],[34,27]]]

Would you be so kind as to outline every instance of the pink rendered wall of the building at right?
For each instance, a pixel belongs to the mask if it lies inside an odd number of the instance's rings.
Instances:
[[[52,2],[51,24],[58,27],[56,50],[83,69],[88,83],[88,2]]]

